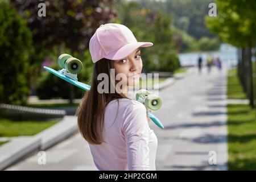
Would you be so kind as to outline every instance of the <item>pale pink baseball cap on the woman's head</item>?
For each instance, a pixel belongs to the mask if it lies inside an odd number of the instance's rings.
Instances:
[[[101,24],[89,42],[93,63],[102,58],[121,60],[139,47],[153,46],[151,42],[137,42],[133,32],[123,24]]]

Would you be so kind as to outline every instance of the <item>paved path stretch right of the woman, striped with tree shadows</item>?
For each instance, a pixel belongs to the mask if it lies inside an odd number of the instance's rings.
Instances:
[[[194,72],[160,92],[158,170],[226,170],[226,71]],[[216,165],[208,162],[210,151]]]

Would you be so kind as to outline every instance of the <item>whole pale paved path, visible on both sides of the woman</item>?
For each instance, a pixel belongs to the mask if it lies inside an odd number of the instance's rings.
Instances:
[[[192,68],[193,69],[193,68]],[[155,112],[165,126],[150,123],[158,137],[157,170],[226,170],[226,72],[197,70],[160,92],[163,107]],[[217,164],[210,165],[209,152]],[[37,154],[7,170],[96,170],[88,143],[73,135],[46,150],[46,165]]]

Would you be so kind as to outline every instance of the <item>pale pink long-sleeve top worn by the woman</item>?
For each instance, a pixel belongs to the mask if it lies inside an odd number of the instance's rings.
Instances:
[[[99,170],[155,170],[158,140],[143,104],[122,98],[118,108],[117,100],[109,102],[102,132],[106,143],[89,144]]]

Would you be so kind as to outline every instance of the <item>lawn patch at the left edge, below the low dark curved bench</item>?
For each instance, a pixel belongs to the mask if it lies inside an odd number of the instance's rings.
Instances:
[[[12,121],[0,118],[0,137],[31,136],[55,125],[58,121]]]

